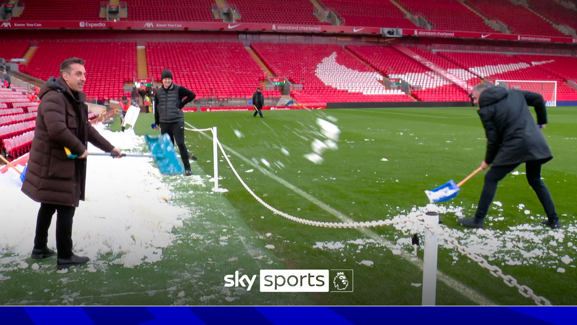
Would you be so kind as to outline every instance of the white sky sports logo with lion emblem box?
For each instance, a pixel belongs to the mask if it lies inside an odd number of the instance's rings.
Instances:
[[[225,287],[252,289],[256,275],[224,276]],[[352,269],[261,269],[260,292],[353,292]]]

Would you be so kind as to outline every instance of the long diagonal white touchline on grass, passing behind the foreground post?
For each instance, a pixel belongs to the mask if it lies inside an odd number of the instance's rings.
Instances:
[[[189,127],[192,128],[196,128],[194,127],[194,125],[185,122],[187,125],[189,125]],[[206,134],[205,132],[200,132],[201,134],[203,134],[205,137],[207,137],[208,139],[212,139],[212,136]],[[258,171],[264,173],[264,175],[269,176],[270,178],[276,180],[277,182],[283,184],[285,187],[287,187],[290,190],[293,190],[295,193],[301,195],[301,197],[305,198],[306,200],[312,202],[313,204],[316,204],[317,206],[319,206],[321,209],[327,211],[328,213],[331,213],[331,215],[337,217],[339,220],[343,221],[343,222],[351,222],[351,221],[355,221],[353,219],[350,219],[349,217],[347,217],[346,215],[344,215],[344,213],[340,212],[339,210],[336,210],[335,208],[332,208],[332,206],[329,206],[328,204],[325,204],[324,202],[321,202],[319,199],[317,199],[316,197],[313,197],[313,195],[310,195],[309,193],[306,193],[305,191],[299,189],[298,187],[294,186],[291,183],[288,183],[286,180],[279,178],[278,176],[276,176],[275,174],[267,171],[264,168],[258,168],[257,164],[254,164],[253,161],[249,160],[249,158],[246,158],[245,156],[243,156],[242,154],[236,152],[235,150],[231,149],[230,147],[226,146],[226,145],[222,145],[226,150],[228,150],[228,152],[233,153],[235,156],[241,158],[242,160],[244,160],[247,164],[252,165],[255,169],[257,169]],[[377,234],[376,232],[370,230],[369,228],[357,228],[359,231],[361,231],[363,234],[365,234],[366,236],[374,239],[377,242],[380,242],[381,244],[387,246],[387,248],[391,248],[392,246],[395,246],[394,243],[388,241],[387,239],[381,237],[379,234]],[[423,270],[423,263],[421,260],[413,260],[413,256],[410,254],[407,254],[405,252],[401,253],[401,255],[405,260],[409,261],[410,263],[414,264],[415,266],[417,266],[421,271]],[[452,278],[449,275],[444,274],[443,272],[441,272],[439,269],[437,269],[437,276],[439,276],[439,280],[441,280],[442,282],[444,282],[445,284],[447,284],[448,286],[452,287],[453,289],[455,289],[456,291],[458,291],[460,294],[462,294],[463,296],[469,298],[469,300],[474,301],[474,302],[478,302],[481,305],[497,305],[496,302],[493,302],[491,300],[489,300],[489,298],[486,298],[485,296],[483,296],[481,293],[479,293],[477,290],[474,290],[470,287],[468,287],[467,285],[465,285],[462,282],[459,282],[458,280]]]

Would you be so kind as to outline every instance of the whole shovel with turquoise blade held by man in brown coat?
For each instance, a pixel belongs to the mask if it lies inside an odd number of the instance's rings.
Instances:
[[[122,157],[152,157],[156,162],[156,166],[162,175],[182,175],[184,167],[182,162],[178,160],[177,153],[174,150],[173,143],[170,141],[168,134],[160,136],[145,135],[149,154],[123,153]],[[68,148],[64,148],[66,156],[74,159],[78,157],[72,154]],[[88,153],[92,156],[115,156],[114,153]]]

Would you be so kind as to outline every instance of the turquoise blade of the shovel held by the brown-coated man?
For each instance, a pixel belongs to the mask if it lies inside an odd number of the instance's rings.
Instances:
[[[170,141],[168,134],[160,136],[147,134],[145,138],[148,150],[150,150],[152,158],[162,175],[182,175],[184,173],[182,161],[178,159],[177,152],[174,150],[174,145]]]

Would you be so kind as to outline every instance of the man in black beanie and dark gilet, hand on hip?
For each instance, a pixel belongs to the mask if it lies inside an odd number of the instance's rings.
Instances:
[[[185,175],[190,176],[188,149],[184,142],[184,113],[182,108],[192,102],[196,95],[189,89],[173,83],[173,73],[169,69],[162,72],[162,87],[154,96],[154,123],[160,125],[160,133],[170,135],[170,140],[177,143],[181,153]],[[184,99],[186,97],[186,99]],[[158,126],[157,126],[158,128]],[[194,155],[193,155],[194,159]]]

